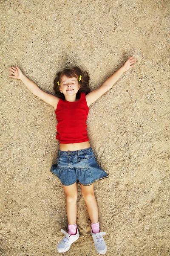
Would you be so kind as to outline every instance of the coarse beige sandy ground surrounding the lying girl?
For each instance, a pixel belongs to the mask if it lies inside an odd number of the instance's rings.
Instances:
[[[93,105],[88,135],[108,179],[95,183],[108,256],[170,255],[170,2],[1,0],[0,255],[53,256],[67,229],[65,195],[50,173],[58,142],[54,109],[19,80],[17,65],[44,91],[62,68],[88,71],[94,90],[134,55]],[[95,256],[78,185],[80,238],[65,256]]]

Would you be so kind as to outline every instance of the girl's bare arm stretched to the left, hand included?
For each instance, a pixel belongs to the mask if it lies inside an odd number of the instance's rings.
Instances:
[[[57,104],[59,102],[59,98],[57,98],[54,95],[43,92],[37,86],[37,84],[35,84],[34,82],[32,82],[26,76],[23,75],[23,73],[21,72],[19,67],[16,67],[16,66],[15,67],[10,67],[9,72],[13,75],[13,76],[10,76],[10,77],[20,79],[26,85],[26,87],[31,91],[31,93],[33,93],[38,98],[42,99],[46,103],[53,106],[54,109],[56,110]]]

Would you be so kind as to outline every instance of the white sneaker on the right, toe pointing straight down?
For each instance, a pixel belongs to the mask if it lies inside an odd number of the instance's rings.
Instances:
[[[100,231],[99,233],[95,234],[91,230],[91,235],[94,240],[96,252],[101,255],[104,255],[107,252],[107,246],[106,246],[105,240],[103,239],[103,235],[106,235],[106,233]]]

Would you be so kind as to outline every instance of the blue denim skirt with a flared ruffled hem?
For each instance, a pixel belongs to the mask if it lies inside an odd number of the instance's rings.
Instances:
[[[75,182],[88,186],[108,174],[96,163],[92,148],[76,151],[59,150],[57,164],[51,166],[53,174],[59,177],[62,185],[70,186]]]

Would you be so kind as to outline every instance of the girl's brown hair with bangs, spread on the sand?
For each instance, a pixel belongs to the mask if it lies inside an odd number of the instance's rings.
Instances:
[[[81,77],[81,80],[79,81],[80,75],[82,77]],[[57,77],[54,79],[54,91],[57,94],[57,97],[61,99],[65,99],[64,94],[60,92],[59,85],[57,84],[58,81],[59,83],[61,82],[61,79],[63,76],[67,76],[69,78],[73,78],[73,77],[77,78],[80,86],[79,91],[77,92],[77,95],[76,95],[77,99],[80,98],[80,93],[85,93],[85,95],[90,93],[90,88],[89,88],[90,77],[88,76],[88,73],[82,72],[79,67],[74,67],[74,68],[62,70],[61,72],[57,73]]]

